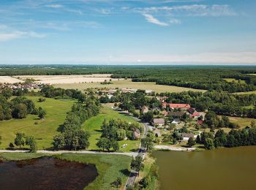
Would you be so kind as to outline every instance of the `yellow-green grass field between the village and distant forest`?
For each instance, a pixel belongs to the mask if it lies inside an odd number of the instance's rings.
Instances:
[[[161,92],[181,92],[181,91],[204,91],[193,88],[183,88],[178,86],[164,86],[156,85],[154,82],[132,82],[132,80],[118,80],[112,81],[113,84],[102,85],[100,83],[75,83],[75,84],[56,84],[56,88],[75,88],[80,91],[85,90],[86,88],[135,88],[142,90],[153,90],[157,93]]]

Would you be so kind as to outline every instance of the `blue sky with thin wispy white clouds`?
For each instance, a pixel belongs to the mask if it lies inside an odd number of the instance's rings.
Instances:
[[[256,64],[255,0],[0,0],[0,64]]]

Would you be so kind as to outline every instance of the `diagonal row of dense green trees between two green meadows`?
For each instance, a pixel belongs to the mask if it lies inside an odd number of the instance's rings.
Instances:
[[[53,137],[53,148],[75,151],[88,148],[90,134],[81,125],[88,118],[97,115],[99,107],[99,102],[94,97],[88,97],[84,104],[74,104],[60,128],[61,134]]]

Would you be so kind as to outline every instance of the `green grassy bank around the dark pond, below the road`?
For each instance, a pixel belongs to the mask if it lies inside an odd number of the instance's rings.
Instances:
[[[0,153],[0,158],[7,160],[31,159],[43,156],[39,153]],[[64,153],[56,155],[59,159],[79,161],[86,164],[95,164],[99,173],[96,180],[85,189],[115,189],[111,186],[116,178],[120,177],[124,185],[129,176],[131,157],[110,154]]]

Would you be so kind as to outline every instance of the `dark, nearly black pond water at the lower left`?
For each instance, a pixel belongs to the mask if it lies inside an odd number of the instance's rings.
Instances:
[[[0,162],[0,189],[83,189],[97,177],[91,164],[50,157]]]

